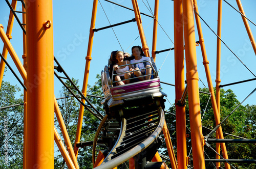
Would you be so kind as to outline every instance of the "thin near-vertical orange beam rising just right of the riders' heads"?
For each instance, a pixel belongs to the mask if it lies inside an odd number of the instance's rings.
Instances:
[[[157,48],[157,25],[158,25],[158,8],[159,0],[155,0],[155,11],[154,11],[154,27],[153,27],[153,43],[152,43],[152,57],[156,62],[156,48]]]

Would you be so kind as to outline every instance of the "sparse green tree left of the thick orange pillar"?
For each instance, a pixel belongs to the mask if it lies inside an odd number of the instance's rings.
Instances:
[[[15,98],[19,91],[17,86],[2,81],[0,107],[23,103],[22,96]],[[0,109],[0,168],[23,167],[23,112],[23,106]]]

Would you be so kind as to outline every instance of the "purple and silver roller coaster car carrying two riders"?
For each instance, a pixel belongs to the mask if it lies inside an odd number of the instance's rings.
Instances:
[[[114,80],[118,73],[113,70],[113,65],[111,61],[109,61],[109,65],[105,66],[104,71],[101,71],[102,90],[105,98],[101,104],[104,104],[104,106],[108,105],[108,107],[113,107],[124,103],[132,103],[134,105],[136,102],[141,104],[143,101],[145,102],[148,99],[154,100],[155,98],[163,98],[163,96],[166,96],[166,94],[161,91],[160,79],[156,71],[157,68],[154,59],[151,58],[151,62],[143,61],[141,63],[146,62],[150,64],[152,74],[144,76],[151,76],[151,79],[139,81],[137,77],[131,77],[130,83],[116,86],[116,82],[118,81]],[[147,68],[144,68],[144,70],[145,69]],[[133,73],[134,71],[130,72]]]

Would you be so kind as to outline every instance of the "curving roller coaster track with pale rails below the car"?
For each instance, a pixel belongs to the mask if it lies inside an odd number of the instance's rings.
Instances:
[[[93,162],[95,163],[97,142],[105,143],[111,148],[108,150],[108,156],[97,168],[114,168],[141,152],[146,156],[146,160],[151,160],[157,151],[157,148],[153,146],[158,145],[159,138],[157,139],[157,137],[164,125],[162,107],[148,105],[125,109],[120,106],[115,113],[118,114],[116,116],[119,119],[117,118],[116,121],[106,115],[96,132]],[[115,144],[112,147],[113,140],[115,140]],[[148,153],[148,147],[150,147],[151,153]]]

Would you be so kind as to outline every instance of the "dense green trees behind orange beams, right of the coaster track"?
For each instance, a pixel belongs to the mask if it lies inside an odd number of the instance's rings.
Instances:
[[[200,89],[200,91],[208,92],[208,89]],[[208,102],[209,101],[209,102]],[[232,92],[232,90],[228,89],[227,91],[221,89],[221,121],[230,114],[230,112],[236,108],[240,102],[236,98],[236,95]],[[188,105],[188,104],[186,104]],[[211,101],[209,100],[209,95],[200,93],[200,106],[201,106],[201,117],[202,117],[202,125],[209,128],[214,129],[215,118],[214,111],[212,109]],[[169,112],[175,114],[175,108],[170,107]],[[232,135],[237,135],[240,137],[244,137],[247,139],[254,139],[256,134],[256,107],[255,105],[246,105],[239,106],[239,108],[233,112],[233,114],[223,123],[222,129],[223,132],[229,133]],[[176,150],[176,117],[170,114],[166,114],[165,116],[167,126],[170,132],[170,136],[172,138],[173,147]],[[190,124],[189,124],[189,110],[188,106],[186,106],[186,119],[187,119],[187,133],[190,135]],[[203,128],[203,135],[206,135],[210,132],[209,129]],[[216,134],[212,134],[210,138],[216,138]],[[224,134],[224,138],[236,138],[231,135]],[[212,148],[215,149],[215,144],[210,144]],[[165,147],[165,146],[163,146]],[[226,148],[228,151],[229,159],[256,159],[254,151],[256,149],[255,144],[234,144],[227,143]],[[190,136],[187,138],[187,155],[190,155],[193,158],[190,152],[191,149],[191,140]],[[211,149],[204,147],[205,158],[216,158],[215,152]],[[163,152],[167,155],[167,151]],[[189,154],[190,153],[190,154]],[[224,163],[221,164],[224,166]],[[240,168],[256,168],[254,163],[232,163],[235,167]],[[215,168],[212,163],[206,163],[206,168]]]

